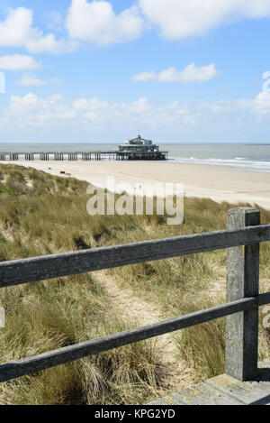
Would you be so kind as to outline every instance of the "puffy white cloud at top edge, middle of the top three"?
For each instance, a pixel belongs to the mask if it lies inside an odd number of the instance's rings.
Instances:
[[[69,36],[96,44],[136,40],[142,26],[137,7],[115,14],[107,1],[72,0],[67,15]]]

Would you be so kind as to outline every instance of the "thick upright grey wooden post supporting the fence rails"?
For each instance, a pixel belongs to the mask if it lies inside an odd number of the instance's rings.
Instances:
[[[229,210],[228,229],[260,225],[255,208]],[[259,244],[228,249],[227,301],[257,296],[259,293]],[[227,317],[226,373],[239,381],[257,377],[258,308]]]

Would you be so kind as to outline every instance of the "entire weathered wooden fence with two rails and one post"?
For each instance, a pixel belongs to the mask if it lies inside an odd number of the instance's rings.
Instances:
[[[260,212],[253,208],[235,208],[229,211],[228,229],[224,231],[0,263],[0,288],[4,288],[228,249],[226,304],[6,363],[0,366],[0,382],[220,317],[227,317],[226,372],[240,381],[256,379],[258,308],[270,303],[270,292],[259,295],[259,245],[267,241],[270,241],[270,225],[260,225]]]

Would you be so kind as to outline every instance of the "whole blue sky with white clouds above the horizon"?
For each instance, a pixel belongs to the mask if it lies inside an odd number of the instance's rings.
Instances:
[[[270,143],[270,0],[0,0],[0,143]]]

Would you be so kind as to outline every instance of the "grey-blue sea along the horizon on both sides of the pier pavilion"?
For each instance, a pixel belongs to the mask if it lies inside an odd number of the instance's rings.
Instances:
[[[116,143],[0,143],[1,152],[108,152]],[[159,143],[169,161],[270,172],[270,143]]]

